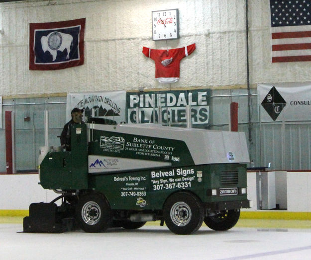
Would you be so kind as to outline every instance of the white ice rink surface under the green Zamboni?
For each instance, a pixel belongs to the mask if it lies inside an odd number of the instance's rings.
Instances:
[[[137,230],[82,230],[61,234],[19,233],[22,224],[0,224],[1,260],[239,260],[311,259],[311,227],[234,227],[216,232],[206,226],[193,235],[175,235],[166,226]]]

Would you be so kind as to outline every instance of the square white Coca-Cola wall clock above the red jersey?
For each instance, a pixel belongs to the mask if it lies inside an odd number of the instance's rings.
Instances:
[[[152,39],[179,39],[178,9],[152,11]]]

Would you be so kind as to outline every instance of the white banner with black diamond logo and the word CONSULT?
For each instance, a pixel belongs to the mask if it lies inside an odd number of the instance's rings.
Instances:
[[[310,121],[311,82],[258,84],[258,104],[261,122]]]

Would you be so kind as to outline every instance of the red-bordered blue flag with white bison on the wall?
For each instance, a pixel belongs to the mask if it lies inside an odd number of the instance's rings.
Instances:
[[[83,65],[85,18],[30,23],[29,69],[51,70]]]

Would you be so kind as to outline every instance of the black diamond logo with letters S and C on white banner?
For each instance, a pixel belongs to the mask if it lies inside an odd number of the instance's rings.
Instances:
[[[286,106],[286,101],[277,91],[275,86],[273,86],[267,96],[262,101],[261,105],[267,111],[273,121],[276,121],[281,111]]]

